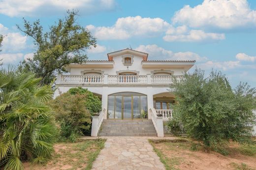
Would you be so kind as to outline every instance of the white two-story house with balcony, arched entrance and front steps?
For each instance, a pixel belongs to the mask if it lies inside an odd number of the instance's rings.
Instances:
[[[93,117],[92,136],[163,136],[162,121],[171,117],[175,96],[169,87],[195,61],[149,60],[148,54],[122,49],[107,60],[87,61],[66,67],[59,74],[55,97],[72,87],[87,88],[102,101]],[[103,123],[102,123],[103,122]]]

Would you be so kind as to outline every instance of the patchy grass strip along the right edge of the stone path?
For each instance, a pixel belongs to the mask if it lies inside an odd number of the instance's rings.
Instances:
[[[174,140],[149,140],[149,143],[153,146],[154,151],[160,157],[160,161],[163,163],[166,170],[178,170],[177,168],[175,168],[175,166],[180,165],[182,158],[181,157],[168,158],[161,152],[160,149],[156,148],[154,145],[159,143],[167,143],[167,141],[169,142],[172,141],[173,142],[172,144],[175,144]]]

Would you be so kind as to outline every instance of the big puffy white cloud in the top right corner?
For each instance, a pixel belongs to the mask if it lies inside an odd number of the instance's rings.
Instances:
[[[231,29],[256,26],[256,11],[247,0],[204,0],[195,7],[184,6],[172,18],[174,24],[190,27]]]

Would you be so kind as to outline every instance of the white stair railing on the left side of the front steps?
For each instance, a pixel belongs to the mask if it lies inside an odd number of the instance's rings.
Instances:
[[[92,116],[93,121],[92,121],[91,136],[98,136],[98,131],[99,131],[99,128],[103,121],[103,115],[105,112],[106,112],[106,109],[103,109],[103,110],[99,111],[97,115]]]

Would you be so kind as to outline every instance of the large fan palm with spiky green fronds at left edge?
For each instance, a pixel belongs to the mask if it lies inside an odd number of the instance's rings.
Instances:
[[[0,166],[22,170],[23,160],[46,163],[58,138],[52,111],[46,102],[53,93],[40,79],[13,67],[0,70]]]

